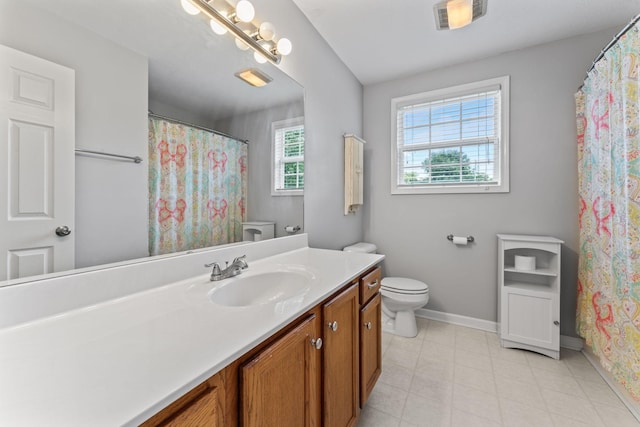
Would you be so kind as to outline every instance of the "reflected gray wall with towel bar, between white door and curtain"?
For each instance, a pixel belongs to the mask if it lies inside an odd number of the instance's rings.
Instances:
[[[0,43],[75,70],[77,148],[146,159],[145,57],[12,0],[0,0]],[[76,267],[149,254],[146,165],[76,156]]]

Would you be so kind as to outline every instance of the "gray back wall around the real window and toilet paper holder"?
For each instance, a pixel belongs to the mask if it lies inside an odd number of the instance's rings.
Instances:
[[[495,321],[496,233],[565,241],[561,333],[575,336],[577,154],[573,94],[617,29],[561,40],[364,88],[365,240],[386,275],[423,280],[426,308]],[[511,76],[508,194],[390,194],[390,108],[398,96]],[[375,173],[373,173],[375,171]],[[447,234],[473,235],[456,247]]]

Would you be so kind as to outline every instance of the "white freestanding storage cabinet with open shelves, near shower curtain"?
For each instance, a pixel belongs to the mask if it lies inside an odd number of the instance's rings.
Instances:
[[[562,240],[498,235],[498,323],[503,347],[560,357],[560,252]],[[523,269],[516,256],[535,260]]]

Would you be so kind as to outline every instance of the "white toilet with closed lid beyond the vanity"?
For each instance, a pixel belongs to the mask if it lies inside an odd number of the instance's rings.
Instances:
[[[375,253],[377,248],[372,243],[356,243],[343,250]],[[409,338],[418,335],[415,311],[429,302],[429,286],[419,280],[385,277],[382,279],[380,293],[382,330]]]

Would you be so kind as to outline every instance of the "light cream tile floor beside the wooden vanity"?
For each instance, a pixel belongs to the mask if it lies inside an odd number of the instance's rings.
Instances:
[[[382,375],[358,427],[640,426],[580,352],[503,349],[495,333],[418,319],[383,334]]]

